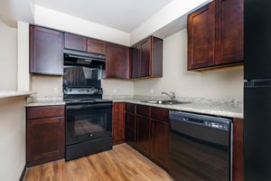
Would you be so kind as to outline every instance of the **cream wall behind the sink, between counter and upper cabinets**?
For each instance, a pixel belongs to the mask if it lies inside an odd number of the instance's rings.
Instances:
[[[229,71],[187,71],[186,29],[164,39],[163,63],[163,78],[135,81],[135,95],[160,96],[161,91],[174,91],[179,97],[243,100],[242,68]]]

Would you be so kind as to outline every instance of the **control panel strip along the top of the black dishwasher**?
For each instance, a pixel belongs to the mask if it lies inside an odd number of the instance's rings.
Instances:
[[[210,129],[230,130],[231,119],[205,116],[182,111],[170,111],[171,120],[186,122],[201,127],[209,127]]]

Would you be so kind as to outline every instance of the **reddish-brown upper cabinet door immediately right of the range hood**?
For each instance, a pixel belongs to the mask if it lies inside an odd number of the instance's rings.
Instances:
[[[129,48],[107,43],[107,78],[129,79]]]

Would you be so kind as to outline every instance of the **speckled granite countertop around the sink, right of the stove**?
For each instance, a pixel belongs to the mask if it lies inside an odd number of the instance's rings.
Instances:
[[[242,102],[229,100],[205,100],[205,99],[186,99],[177,98],[177,100],[191,101],[191,103],[177,104],[177,105],[158,105],[152,103],[142,102],[144,100],[157,100],[154,97],[104,97],[107,100],[114,102],[129,102],[169,110],[183,110],[195,113],[209,114],[214,116],[243,119],[243,104]]]

